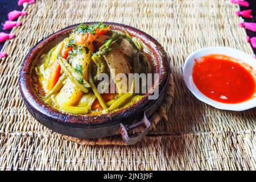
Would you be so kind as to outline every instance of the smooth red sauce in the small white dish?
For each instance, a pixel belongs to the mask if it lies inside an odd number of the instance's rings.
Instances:
[[[205,96],[226,104],[237,104],[254,96],[254,76],[232,57],[208,55],[195,61],[193,81]]]

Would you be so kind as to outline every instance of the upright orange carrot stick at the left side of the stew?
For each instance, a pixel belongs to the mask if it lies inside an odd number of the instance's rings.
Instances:
[[[52,64],[51,73],[49,76],[49,80],[47,83],[47,89],[52,90],[52,88],[56,85],[57,81],[60,77],[60,64],[59,61],[55,60]]]

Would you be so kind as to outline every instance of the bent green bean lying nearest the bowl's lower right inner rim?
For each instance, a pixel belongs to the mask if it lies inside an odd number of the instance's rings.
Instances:
[[[133,98],[135,94],[135,82],[133,80],[133,85],[131,86],[131,90],[129,93],[123,94],[123,96],[119,97],[117,100],[115,100],[115,102],[113,102],[113,104],[109,107],[109,110],[115,110],[118,109],[119,107],[125,105],[128,101],[131,100],[131,98]]]

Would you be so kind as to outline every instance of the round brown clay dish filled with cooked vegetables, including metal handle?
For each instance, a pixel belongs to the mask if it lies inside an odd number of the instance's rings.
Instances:
[[[19,72],[28,111],[57,133],[76,138],[122,134],[141,140],[170,80],[163,47],[137,28],[75,24],[38,42]],[[139,137],[127,131],[144,125]]]

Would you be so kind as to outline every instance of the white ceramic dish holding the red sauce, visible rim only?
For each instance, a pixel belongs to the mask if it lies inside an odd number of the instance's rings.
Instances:
[[[199,89],[197,89],[192,78],[192,70],[193,65],[195,64],[195,59],[210,54],[220,54],[234,57],[238,60],[241,60],[243,63],[249,64],[254,70],[256,70],[256,59],[253,56],[250,56],[247,53],[239,51],[237,49],[229,47],[207,47],[200,49],[199,51],[193,52],[190,56],[188,56],[188,58],[185,60],[185,64],[183,67],[183,79],[188,89],[194,94],[194,96],[196,96],[196,98],[200,101],[216,107],[217,109],[243,111],[256,107],[256,97],[252,98],[251,100],[241,102],[239,104],[224,104],[211,100],[203,93],[201,93]]]

